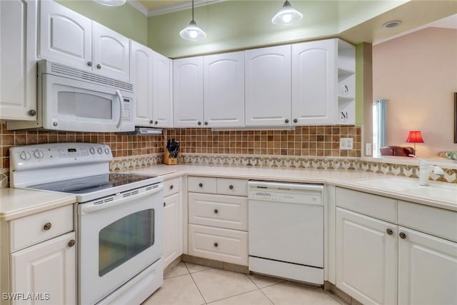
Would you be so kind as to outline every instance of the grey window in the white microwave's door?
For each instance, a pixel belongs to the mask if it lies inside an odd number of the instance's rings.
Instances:
[[[57,112],[59,114],[91,119],[112,119],[111,99],[80,92],[59,91]]]

